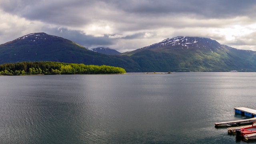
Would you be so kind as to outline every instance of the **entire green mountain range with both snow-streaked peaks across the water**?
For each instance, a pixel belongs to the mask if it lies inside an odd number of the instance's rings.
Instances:
[[[254,51],[238,50],[210,38],[183,36],[119,55],[93,52],[43,32],[0,45],[0,64],[23,61],[108,65],[124,68],[126,72],[256,72]]]

